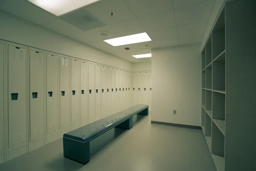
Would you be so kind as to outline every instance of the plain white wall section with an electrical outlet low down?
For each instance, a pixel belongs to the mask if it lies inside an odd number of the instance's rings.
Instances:
[[[200,126],[200,85],[200,44],[152,49],[151,120]]]

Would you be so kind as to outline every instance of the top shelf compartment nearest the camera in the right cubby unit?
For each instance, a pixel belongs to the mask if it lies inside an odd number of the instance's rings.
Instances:
[[[212,59],[217,58],[225,50],[225,9],[212,30]]]

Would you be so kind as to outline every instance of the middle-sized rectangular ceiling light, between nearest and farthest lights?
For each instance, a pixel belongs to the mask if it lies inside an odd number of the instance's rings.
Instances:
[[[111,44],[112,46],[122,46],[126,44],[134,44],[134,43],[140,43],[145,41],[152,41],[146,32],[139,33],[136,35],[129,35],[129,36],[124,36],[120,38],[105,40],[106,43]]]

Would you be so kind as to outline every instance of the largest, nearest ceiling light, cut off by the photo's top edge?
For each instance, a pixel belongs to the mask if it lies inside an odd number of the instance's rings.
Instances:
[[[71,12],[75,9],[79,9],[83,6],[87,6],[91,3],[99,0],[27,0],[36,6],[56,15],[60,16]]]

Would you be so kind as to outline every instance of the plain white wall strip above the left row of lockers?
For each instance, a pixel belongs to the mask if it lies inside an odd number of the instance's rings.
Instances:
[[[0,39],[131,70],[132,64],[0,10]]]

